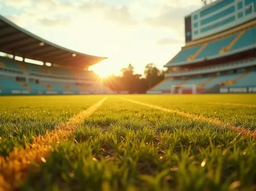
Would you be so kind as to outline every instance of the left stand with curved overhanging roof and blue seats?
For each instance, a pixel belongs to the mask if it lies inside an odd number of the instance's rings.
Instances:
[[[106,58],[53,44],[1,15],[0,52],[0,94],[112,93],[88,70]]]

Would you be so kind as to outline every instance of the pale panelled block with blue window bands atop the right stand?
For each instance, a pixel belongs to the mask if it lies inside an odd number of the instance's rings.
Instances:
[[[256,0],[219,0],[185,17],[186,42],[214,35],[256,17]]]

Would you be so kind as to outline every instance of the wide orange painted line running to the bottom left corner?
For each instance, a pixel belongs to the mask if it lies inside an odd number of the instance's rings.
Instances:
[[[92,115],[106,100],[106,97],[86,110],[71,117],[68,122],[47,131],[45,135],[35,137],[31,145],[25,149],[14,148],[8,157],[0,156],[0,190],[13,190],[26,180],[31,171],[31,162],[37,164],[46,162],[52,149],[51,144],[61,139],[67,139],[75,132],[84,119]]]

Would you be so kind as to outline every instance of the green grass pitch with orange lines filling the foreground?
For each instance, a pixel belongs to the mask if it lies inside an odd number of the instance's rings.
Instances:
[[[0,190],[256,190],[256,95],[0,97]]]

